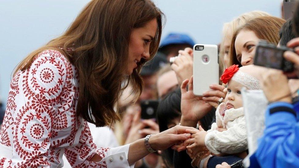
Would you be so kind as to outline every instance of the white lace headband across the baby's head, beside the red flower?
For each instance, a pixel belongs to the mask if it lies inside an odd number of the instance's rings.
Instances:
[[[238,70],[232,77],[232,80],[242,84],[249,90],[261,90],[259,80],[255,77]]]

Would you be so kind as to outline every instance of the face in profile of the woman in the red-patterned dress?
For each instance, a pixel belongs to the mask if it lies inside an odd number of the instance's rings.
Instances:
[[[134,28],[129,42],[129,63],[127,75],[131,75],[141,58],[149,59],[149,45],[157,32],[157,19],[147,22],[141,28]]]

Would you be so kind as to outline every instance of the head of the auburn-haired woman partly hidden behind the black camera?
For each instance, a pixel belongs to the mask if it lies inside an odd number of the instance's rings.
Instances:
[[[236,30],[229,51],[230,65],[251,65],[260,39],[277,46],[279,30],[286,21],[273,16],[255,18]]]

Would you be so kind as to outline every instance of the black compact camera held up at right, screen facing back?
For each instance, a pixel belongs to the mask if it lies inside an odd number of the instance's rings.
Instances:
[[[283,72],[293,72],[294,64],[283,57],[285,51],[294,52],[293,49],[286,46],[276,47],[275,45],[262,40],[256,46],[253,64],[267,68],[280,69]]]

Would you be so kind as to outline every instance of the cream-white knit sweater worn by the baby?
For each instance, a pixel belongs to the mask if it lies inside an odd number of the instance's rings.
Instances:
[[[244,118],[244,108],[222,111],[225,103],[221,103],[216,110],[216,123],[212,124],[205,138],[206,147],[214,154],[234,154],[247,150],[247,132]],[[219,132],[217,127],[226,128],[226,131]]]

